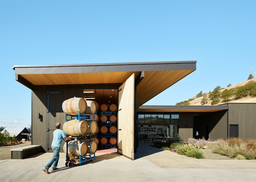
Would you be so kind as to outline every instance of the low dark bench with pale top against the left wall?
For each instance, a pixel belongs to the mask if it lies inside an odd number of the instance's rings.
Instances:
[[[11,149],[11,159],[25,159],[41,152],[41,145],[29,145]]]

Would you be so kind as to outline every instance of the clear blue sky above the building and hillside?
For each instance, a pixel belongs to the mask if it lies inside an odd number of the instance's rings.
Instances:
[[[255,1],[1,1],[0,126],[31,123],[13,65],[197,60],[147,105],[175,105],[256,67]]]

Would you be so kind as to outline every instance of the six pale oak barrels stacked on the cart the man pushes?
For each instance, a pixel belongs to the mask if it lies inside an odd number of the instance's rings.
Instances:
[[[79,121],[78,119],[72,119],[65,122],[62,126],[63,131],[67,135],[81,136],[90,135],[99,132],[98,122],[100,121],[99,116],[96,113],[99,105],[97,102],[86,100],[84,98],[71,98],[65,100],[62,103],[63,112],[68,115],[90,114],[85,116],[86,121]],[[68,153],[74,156],[84,156],[86,154],[95,153],[98,148],[99,138],[92,138],[92,140],[79,142],[78,140],[72,140],[68,142]],[[63,150],[67,152],[67,144],[64,144]]]

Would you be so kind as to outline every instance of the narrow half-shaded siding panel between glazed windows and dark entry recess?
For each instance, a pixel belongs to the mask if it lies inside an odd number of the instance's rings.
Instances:
[[[180,115],[179,138],[181,140],[193,138],[193,113],[179,113],[179,115]]]

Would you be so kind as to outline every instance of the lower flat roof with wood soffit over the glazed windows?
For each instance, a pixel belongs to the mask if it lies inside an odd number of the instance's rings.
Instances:
[[[216,112],[229,106],[140,106],[137,112]]]

